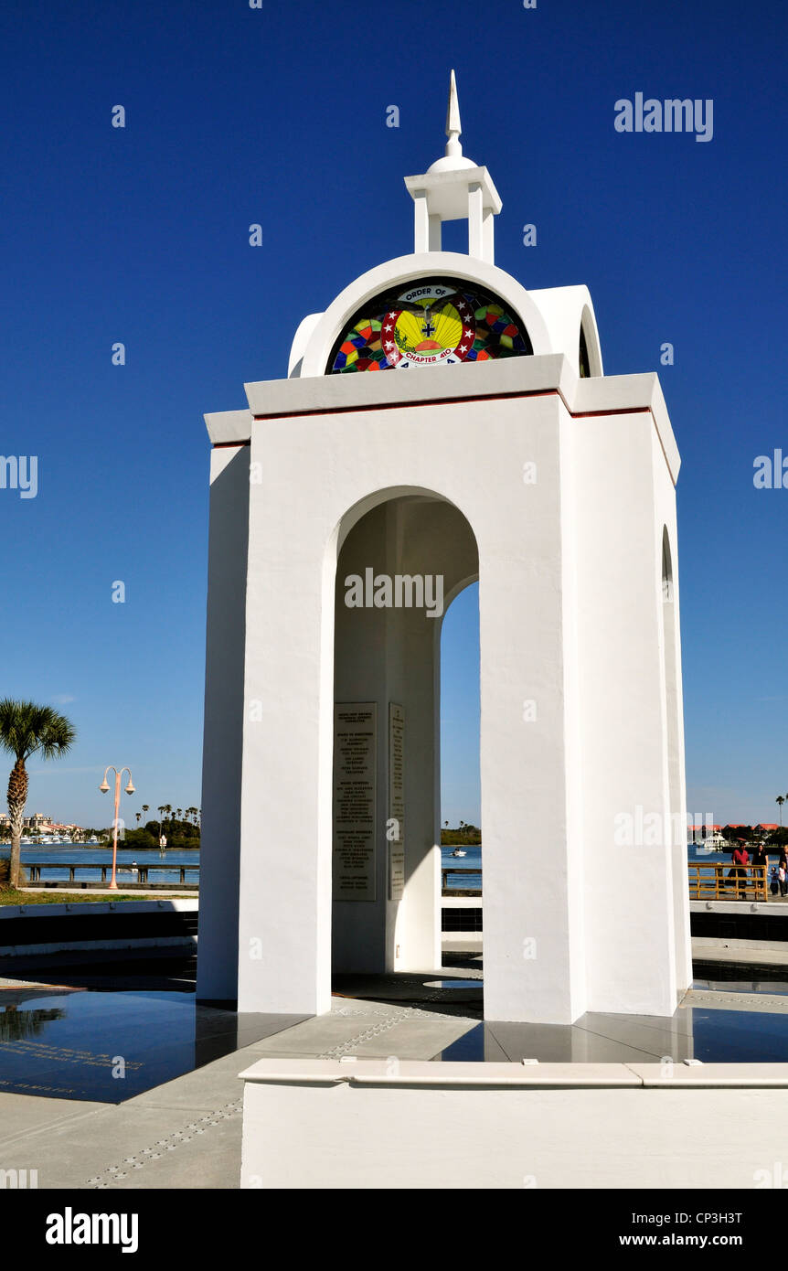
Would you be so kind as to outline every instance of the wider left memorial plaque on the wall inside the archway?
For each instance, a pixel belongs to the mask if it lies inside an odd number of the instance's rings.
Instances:
[[[375,900],[377,703],[334,705],[334,900]]]

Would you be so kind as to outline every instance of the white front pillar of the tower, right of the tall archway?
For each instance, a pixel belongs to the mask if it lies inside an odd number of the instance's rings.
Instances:
[[[473,409],[473,408],[472,408]],[[563,1023],[586,1009],[569,919],[566,508],[555,398],[487,412],[479,543],[484,1012]],[[536,466],[524,483],[524,464]],[[536,718],[526,721],[533,703]],[[577,969],[578,975],[573,974]]]

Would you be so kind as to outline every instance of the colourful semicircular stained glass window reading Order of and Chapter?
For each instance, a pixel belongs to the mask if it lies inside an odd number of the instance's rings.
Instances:
[[[328,374],[486,362],[533,353],[520,318],[461,278],[419,278],[358,310],[334,344]]]

